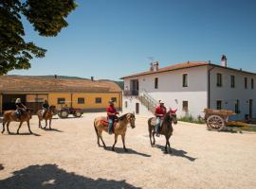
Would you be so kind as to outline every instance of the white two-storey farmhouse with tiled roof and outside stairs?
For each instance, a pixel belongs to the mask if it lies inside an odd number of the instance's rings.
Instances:
[[[123,112],[153,115],[159,100],[177,109],[177,115],[196,118],[204,109],[225,109],[237,114],[230,119],[256,117],[256,74],[207,61],[188,61],[158,68],[124,79]]]

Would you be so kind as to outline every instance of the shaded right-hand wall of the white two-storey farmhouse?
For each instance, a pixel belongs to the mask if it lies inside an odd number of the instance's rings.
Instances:
[[[223,85],[217,87],[217,73],[222,74]],[[235,76],[235,88],[230,87],[230,76]],[[244,78],[247,77],[247,89]],[[254,89],[251,89],[250,79],[254,78]],[[225,68],[215,67],[210,71],[210,108],[216,109],[216,100],[222,100],[222,109],[235,110],[235,100],[240,101],[240,113],[231,116],[230,119],[244,119],[248,114],[248,100],[253,99],[252,116],[256,117],[256,75],[232,71]]]

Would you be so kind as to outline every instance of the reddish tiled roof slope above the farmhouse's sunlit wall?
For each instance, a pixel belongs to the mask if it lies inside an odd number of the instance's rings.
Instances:
[[[138,73],[138,74],[135,74],[135,75],[130,75],[130,76],[121,77],[121,78],[140,77],[140,76],[145,76],[145,75],[151,75],[151,74],[162,73],[162,72],[169,72],[169,71],[173,71],[173,70],[192,68],[192,67],[204,66],[204,65],[211,65],[211,64],[207,61],[188,61],[188,62],[178,63],[178,64],[174,64],[174,65],[171,65],[171,66],[159,68],[157,71],[141,72],[141,73]]]

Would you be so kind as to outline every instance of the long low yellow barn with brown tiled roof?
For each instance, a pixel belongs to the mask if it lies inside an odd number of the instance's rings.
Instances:
[[[61,109],[65,105],[84,112],[101,112],[110,99],[121,109],[121,89],[110,80],[61,77],[0,77],[0,112],[15,109],[19,97],[27,107],[37,112],[47,99]]]

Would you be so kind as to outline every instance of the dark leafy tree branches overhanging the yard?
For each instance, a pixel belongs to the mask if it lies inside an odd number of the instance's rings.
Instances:
[[[64,19],[76,6],[74,0],[0,0],[0,76],[28,69],[29,60],[46,55],[46,49],[25,42],[21,15],[39,35],[53,37],[68,26]]]

